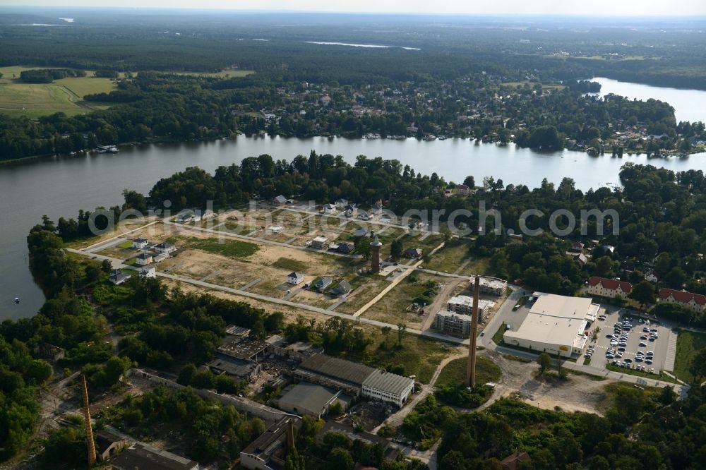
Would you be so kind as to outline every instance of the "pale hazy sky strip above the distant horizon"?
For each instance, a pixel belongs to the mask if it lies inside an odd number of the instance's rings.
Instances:
[[[706,0],[0,0],[0,6],[121,6],[393,13],[706,15]]]

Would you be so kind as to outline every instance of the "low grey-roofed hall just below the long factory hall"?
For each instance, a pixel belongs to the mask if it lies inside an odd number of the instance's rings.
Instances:
[[[299,382],[277,400],[277,407],[289,413],[321,418],[335,402],[347,409],[352,397],[340,390],[311,382]]]

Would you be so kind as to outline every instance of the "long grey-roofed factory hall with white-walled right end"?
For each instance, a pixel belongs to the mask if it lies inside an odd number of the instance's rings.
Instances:
[[[346,393],[380,399],[402,406],[414,390],[414,380],[325,354],[304,359],[294,378],[335,387]]]

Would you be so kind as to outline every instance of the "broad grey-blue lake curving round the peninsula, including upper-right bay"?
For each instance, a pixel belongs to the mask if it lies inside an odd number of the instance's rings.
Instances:
[[[604,79],[598,78],[598,81]],[[611,82],[614,80],[611,80]],[[603,93],[611,92],[612,83],[604,83]],[[643,90],[633,85],[626,95]],[[625,84],[620,84],[621,87]],[[701,100],[701,93],[691,90],[652,89],[654,97],[681,92],[676,102]],[[666,95],[659,95],[664,91]],[[689,108],[690,109],[690,108]],[[706,105],[701,107],[706,120]],[[677,108],[677,113],[687,114]],[[698,114],[697,114],[698,116]],[[689,119],[689,118],[684,118]],[[650,163],[674,171],[702,169],[706,171],[706,155],[685,158],[648,159],[645,155],[613,158],[590,157],[582,152],[551,154],[520,149],[515,145],[479,144],[471,140],[448,139],[433,142],[406,140],[366,140],[344,138],[245,138],[203,143],[138,145],[121,147],[111,154],[89,154],[57,157],[34,162],[0,166],[0,320],[34,315],[44,303],[42,291],[32,281],[28,270],[26,236],[40,222],[42,215],[56,220],[61,216],[76,217],[79,209],[92,210],[98,205],[121,204],[122,190],[135,189],[147,193],[154,183],[186,167],[198,166],[213,171],[219,165],[238,163],[244,157],[268,153],[275,159],[291,160],[297,155],[319,153],[342,155],[354,162],[357,155],[399,159],[422,174],[436,172],[447,181],[463,181],[473,175],[477,183],[484,176],[501,178],[505,184],[524,183],[538,186],[546,177],[559,183],[564,176],[573,178],[577,188],[587,190],[618,183],[618,171],[624,162]],[[13,299],[22,302],[16,305]]]

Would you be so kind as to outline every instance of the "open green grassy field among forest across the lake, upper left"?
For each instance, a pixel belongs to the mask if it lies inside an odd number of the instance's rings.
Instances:
[[[68,115],[83,114],[93,109],[104,108],[99,103],[83,101],[85,95],[110,92],[116,84],[109,78],[95,78],[92,71],[86,77],[71,77],[54,80],[52,83],[23,83],[20,72],[32,68],[0,67],[0,113],[8,116],[37,118],[56,112]]]

